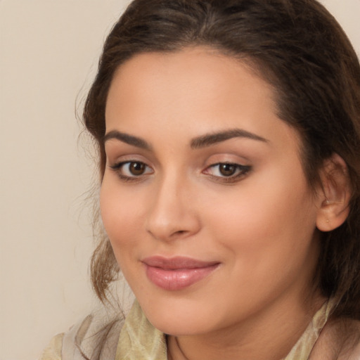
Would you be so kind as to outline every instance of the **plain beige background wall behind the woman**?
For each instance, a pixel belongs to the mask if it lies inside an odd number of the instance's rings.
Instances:
[[[0,360],[36,359],[94,307],[75,99],[127,0],[0,0]],[[323,0],[360,53],[360,0]],[[85,210],[83,210],[85,207]]]

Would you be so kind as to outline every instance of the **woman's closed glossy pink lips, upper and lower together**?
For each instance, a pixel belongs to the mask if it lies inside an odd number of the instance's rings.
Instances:
[[[146,257],[148,279],[165,290],[181,290],[197,283],[217,269],[219,262],[204,262],[191,257]]]

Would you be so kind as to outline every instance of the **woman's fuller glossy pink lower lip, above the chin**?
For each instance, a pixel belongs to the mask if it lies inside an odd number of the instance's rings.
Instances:
[[[148,279],[165,290],[181,290],[197,283],[212,273],[219,264],[195,269],[162,269],[146,265]]]

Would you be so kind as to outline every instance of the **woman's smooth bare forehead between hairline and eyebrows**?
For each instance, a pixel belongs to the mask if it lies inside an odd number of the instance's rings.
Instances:
[[[137,136],[198,136],[240,127],[268,139],[288,127],[276,115],[274,90],[249,65],[214,49],[141,53],[115,72],[106,130]],[[287,129],[288,131],[289,129]],[[280,133],[279,133],[280,134]]]

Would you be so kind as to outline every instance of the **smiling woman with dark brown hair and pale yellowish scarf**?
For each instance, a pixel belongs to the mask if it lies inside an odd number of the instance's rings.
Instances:
[[[84,108],[107,302],[43,359],[360,359],[360,67],[315,0],[135,0]]]

